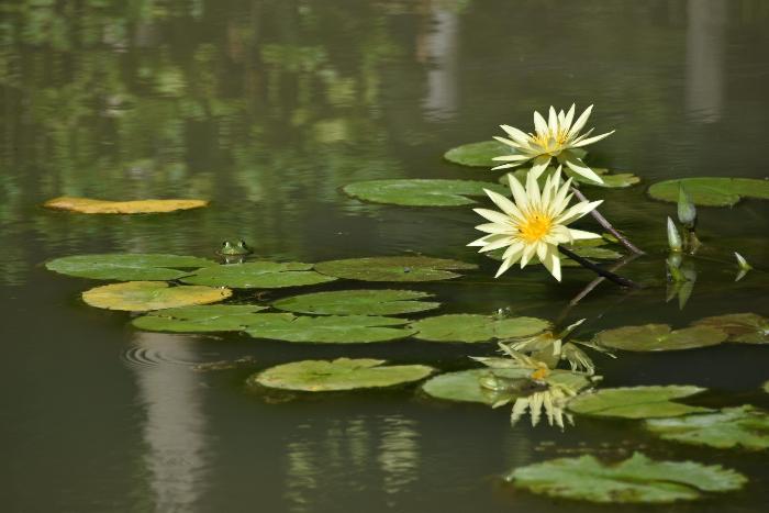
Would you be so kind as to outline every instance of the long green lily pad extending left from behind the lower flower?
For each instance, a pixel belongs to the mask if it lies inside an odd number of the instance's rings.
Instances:
[[[357,181],[344,191],[359,200],[404,207],[459,207],[477,203],[469,196],[486,197],[483,189],[500,194],[510,191],[493,182],[476,180],[395,179]]]

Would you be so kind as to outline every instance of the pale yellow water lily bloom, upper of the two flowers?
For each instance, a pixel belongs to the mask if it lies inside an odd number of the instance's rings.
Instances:
[[[588,122],[592,110],[593,105],[588,107],[577,121],[573,121],[573,104],[571,109],[569,109],[569,112],[564,112],[561,110],[558,113],[556,113],[555,108],[550,107],[547,121],[545,121],[542,114],[535,111],[535,132],[533,134],[525,133],[513,126],[501,125],[500,127],[506,132],[510,138],[506,140],[498,136],[494,136],[494,138],[510,146],[513,149],[513,154],[494,157],[494,160],[504,161],[506,164],[497,166],[493,169],[516,167],[532,160],[532,171],[535,178],[538,178],[539,175],[547,169],[550,160],[556,158],[558,163],[565,164],[576,174],[603,183],[603,179],[593,172],[589,166],[586,166],[579,155],[573,152],[576,148],[597,143],[614,133],[614,131],[611,131],[590,137],[593,131],[593,129],[590,129],[588,132],[580,135],[580,131]]]

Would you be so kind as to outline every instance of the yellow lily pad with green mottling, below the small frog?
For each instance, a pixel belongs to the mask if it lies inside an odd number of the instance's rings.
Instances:
[[[91,306],[100,309],[146,312],[215,303],[231,295],[232,290],[230,289],[169,287],[164,281],[126,281],[87,290],[82,293],[82,300]]]

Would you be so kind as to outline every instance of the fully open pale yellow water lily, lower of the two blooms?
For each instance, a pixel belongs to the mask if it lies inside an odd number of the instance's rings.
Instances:
[[[484,189],[502,212],[488,209],[473,209],[478,214],[491,221],[476,226],[488,235],[471,242],[468,246],[481,246],[479,253],[506,247],[502,255],[502,265],[497,277],[508,270],[516,261],[523,269],[536,255],[547,270],[560,281],[560,254],[558,245],[572,243],[582,238],[600,238],[601,236],[567,227],[570,223],[595,209],[601,201],[581,201],[569,207],[572,194],[569,194],[571,178],[564,183],[560,181],[561,168],[547,177],[542,191],[536,175],[530,171],[526,176],[526,188],[508,175],[513,201],[494,191]]]

